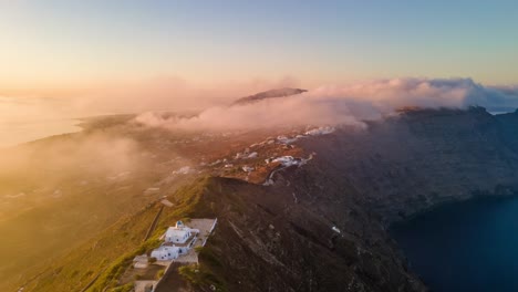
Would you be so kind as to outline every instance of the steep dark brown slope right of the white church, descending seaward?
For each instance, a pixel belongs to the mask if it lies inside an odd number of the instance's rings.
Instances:
[[[218,178],[207,192],[219,225],[200,261],[229,291],[424,290],[355,190],[289,173],[272,187]]]

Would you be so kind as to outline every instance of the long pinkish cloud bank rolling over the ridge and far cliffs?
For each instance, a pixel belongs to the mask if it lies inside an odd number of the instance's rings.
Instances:
[[[241,106],[215,106],[193,117],[144,113],[136,122],[177,129],[238,129],[298,125],[362,126],[403,106],[467,108],[489,112],[518,107],[517,87],[488,87],[470,79],[393,79],[322,86],[307,93]]]

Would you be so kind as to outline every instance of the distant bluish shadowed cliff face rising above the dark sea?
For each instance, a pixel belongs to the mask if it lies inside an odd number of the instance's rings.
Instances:
[[[493,116],[480,108],[411,112],[304,147],[390,223],[444,201],[515,192],[515,115]]]

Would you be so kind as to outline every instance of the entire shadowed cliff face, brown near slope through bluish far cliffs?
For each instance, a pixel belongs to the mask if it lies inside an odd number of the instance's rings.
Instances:
[[[514,194],[515,115],[408,112],[301,140],[315,158],[279,171],[273,186],[215,178],[206,200],[220,223],[201,264],[230,291],[425,291],[387,225],[445,201]]]

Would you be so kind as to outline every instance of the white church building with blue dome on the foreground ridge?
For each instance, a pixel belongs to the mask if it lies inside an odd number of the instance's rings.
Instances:
[[[188,228],[184,222],[177,221],[175,227],[167,229],[164,234],[164,243],[159,248],[154,249],[151,257],[159,261],[177,259],[193,248],[198,233],[198,229]]]

